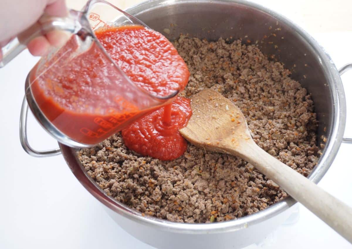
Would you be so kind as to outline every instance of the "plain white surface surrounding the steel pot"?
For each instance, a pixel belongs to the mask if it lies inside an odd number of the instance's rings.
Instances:
[[[69,1],[80,8],[84,1]],[[137,1],[112,1],[120,7]],[[257,1],[289,17],[325,47],[336,66],[352,62],[350,1]],[[347,6],[349,5],[349,6]],[[46,248],[140,248],[151,247],[135,240],[115,224],[102,205],[78,183],[61,156],[33,158],[20,146],[18,123],[24,81],[37,58],[27,51],[0,69],[0,249]],[[352,136],[352,72],[344,82],[347,128]],[[348,115],[349,114],[349,115]],[[30,115],[29,136],[33,147],[57,147]],[[352,206],[352,145],[342,144],[328,173],[319,185]],[[299,216],[282,225],[261,245],[246,249],[352,248],[343,238],[303,206]]]

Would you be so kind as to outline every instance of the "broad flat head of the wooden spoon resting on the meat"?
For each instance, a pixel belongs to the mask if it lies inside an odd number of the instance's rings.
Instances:
[[[253,142],[241,110],[219,92],[200,91],[192,97],[191,107],[193,115],[180,133],[194,145],[238,155],[243,143]]]

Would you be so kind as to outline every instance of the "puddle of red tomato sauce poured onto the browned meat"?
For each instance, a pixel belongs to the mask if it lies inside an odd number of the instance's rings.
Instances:
[[[174,160],[186,151],[187,142],[179,129],[192,115],[190,100],[177,97],[171,105],[142,117],[122,130],[125,145],[133,151],[158,158]],[[165,117],[169,122],[165,122]]]

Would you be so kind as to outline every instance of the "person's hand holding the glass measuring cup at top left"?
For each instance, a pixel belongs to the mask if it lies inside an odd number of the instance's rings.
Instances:
[[[0,59],[1,48],[36,23],[42,14],[58,17],[67,14],[64,0],[0,0],[0,6]],[[42,56],[51,46],[61,45],[63,40],[61,32],[54,31],[34,38],[27,47],[32,55]]]

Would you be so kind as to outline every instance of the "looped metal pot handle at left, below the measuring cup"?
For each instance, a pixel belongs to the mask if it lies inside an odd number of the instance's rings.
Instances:
[[[60,148],[49,149],[46,151],[37,151],[33,149],[27,140],[27,114],[28,114],[28,103],[26,96],[23,98],[21,115],[20,115],[20,141],[25,152],[30,154],[33,157],[51,157],[54,155],[61,154]]]

